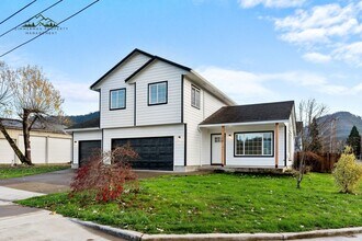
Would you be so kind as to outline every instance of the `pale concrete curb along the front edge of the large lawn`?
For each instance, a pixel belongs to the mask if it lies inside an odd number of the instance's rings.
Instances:
[[[312,239],[335,236],[351,236],[362,233],[362,227],[342,228],[342,229],[325,229],[307,232],[280,232],[280,233],[195,233],[195,234],[147,234],[126,229],[113,228],[110,226],[98,225],[92,221],[82,221],[77,218],[70,218],[71,221],[88,228],[106,232],[111,236],[120,237],[126,240],[147,240],[147,241],[190,241],[190,240],[234,240],[234,241],[257,241],[257,240],[296,240]]]

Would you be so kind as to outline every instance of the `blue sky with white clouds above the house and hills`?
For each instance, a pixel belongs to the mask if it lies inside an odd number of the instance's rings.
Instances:
[[[29,2],[2,0],[0,19]],[[54,2],[37,0],[0,32]],[[60,22],[90,2],[64,0],[44,15]],[[362,1],[101,0],[61,26],[0,60],[41,66],[67,114],[98,111],[89,85],[140,48],[195,69],[238,104],[315,97],[362,115]],[[0,37],[0,54],[33,36]]]

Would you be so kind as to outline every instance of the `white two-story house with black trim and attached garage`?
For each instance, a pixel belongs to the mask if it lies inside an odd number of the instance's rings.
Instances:
[[[73,167],[92,150],[129,142],[135,169],[291,167],[294,102],[236,105],[189,67],[133,50],[91,85],[100,118],[69,128]]]

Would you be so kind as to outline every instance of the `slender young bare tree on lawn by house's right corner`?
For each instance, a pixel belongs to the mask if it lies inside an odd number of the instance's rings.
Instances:
[[[310,137],[310,128],[313,119],[318,119],[323,115],[326,115],[328,112],[328,108],[325,104],[317,103],[315,99],[309,99],[307,101],[302,101],[298,106],[298,122],[303,123],[303,128],[301,130],[301,142],[302,142],[302,149],[299,150],[302,152],[302,158],[299,161],[298,167],[298,176],[297,176],[297,188],[301,188],[301,183],[303,181],[304,172],[305,172],[305,159],[306,157],[312,157],[315,159],[318,159],[319,156],[317,153],[314,153],[310,148],[313,145],[313,138]],[[327,122],[326,122],[327,123]],[[321,127],[326,125],[326,123],[318,123],[318,126]]]

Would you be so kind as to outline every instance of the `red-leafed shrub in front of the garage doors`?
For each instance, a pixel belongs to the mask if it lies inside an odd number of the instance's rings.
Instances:
[[[137,158],[129,144],[92,156],[77,171],[70,184],[70,197],[81,193],[95,202],[109,202],[117,199],[123,193],[137,191],[137,175],[129,164]]]

